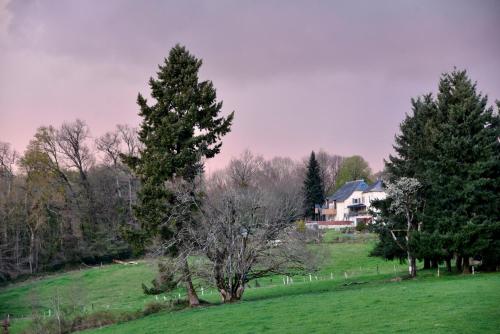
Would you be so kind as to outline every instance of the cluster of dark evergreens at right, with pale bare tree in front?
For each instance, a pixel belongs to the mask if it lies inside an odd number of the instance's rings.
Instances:
[[[500,108],[500,103],[497,102]],[[412,100],[412,113],[386,161],[388,198],[377,203],[373,254],[407,259],[415,276],[446,263],[470,272],[500,264],[500,119],[466,71],[443,74],[436,96]]]

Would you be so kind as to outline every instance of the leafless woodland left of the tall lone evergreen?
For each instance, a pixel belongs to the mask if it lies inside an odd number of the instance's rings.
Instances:
[[[23,155],[0,143],[0,281],[73,263],[130,256],[139,183],[119,154],[135,156],[134,128],[92,138],[84,121],[40,127]]]

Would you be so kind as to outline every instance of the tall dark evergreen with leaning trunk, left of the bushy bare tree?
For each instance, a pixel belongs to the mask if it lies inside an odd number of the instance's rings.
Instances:
[[[174,212],[182,205],[171,185],[193,183],[203,172],[204,159],[219,153],[221,137],[230,131],[233,120],[233,113],[219,116],[222,102],[217,101],[211,81],[199,81],[201,65],[202,61],[183,46],[170,50],[159,66],[157,79],[149,80],[155,103],[149,105],[141,94],[137,98],[143,118],[140,157],[125,157],[142,182],[134,210],[141,229],[131,235],[138,244],[155,236],[164,241],[175,237],[175,247],[170,248],[173,255],[183,250],[179,234],[186,224],[193,223],[194,208],[182,210],[180,215]],[[183,270],[189,302],[197,305],[187,259]]]

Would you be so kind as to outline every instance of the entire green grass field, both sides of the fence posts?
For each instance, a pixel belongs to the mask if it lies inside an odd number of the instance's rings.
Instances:
[[[261,287],[251,283],[244,300],[232,305],[219,305],[215,290],[204,287],[202,298],[212,306],[162,312],[85,333],[498,332],[500,274],[437,277],[435,271],[422,271],[415,280],[394,281],[406,266],[369,257],[373,245],[370,236],[329,232],[313,246],[326,259],[312,281],[309,275],[296,276],[294,284],[285,286],[279,276],[261,279]],[[142,261],[13,284],[0,289],[0,314],[17,317],[11,333],[20,333],[33,307],[48,314],[56,293],[69,296],[68,302],[78,299],[85,312],[138,311],[156,300],[141,289],[155,270],[154,263]]]

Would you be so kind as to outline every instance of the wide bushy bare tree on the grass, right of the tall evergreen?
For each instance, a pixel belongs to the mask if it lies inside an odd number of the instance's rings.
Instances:
[[[224,302],[241,299],[252,279],[313,265],[295,231],[302,203],[298,175],[287,159],[264,162],[245,152],[207,181],[200,223],[191,232]]]

